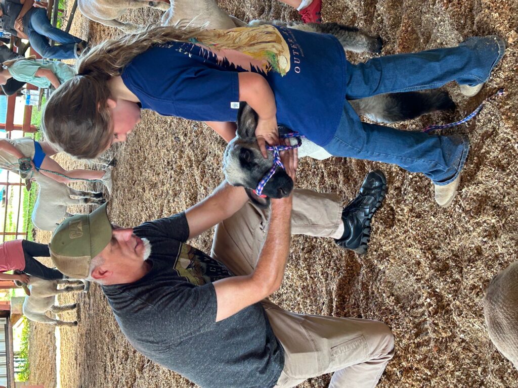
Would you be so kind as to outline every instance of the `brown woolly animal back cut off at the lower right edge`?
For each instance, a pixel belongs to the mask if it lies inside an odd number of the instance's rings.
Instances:
[[[518,369],[518,261],[491,280],[483,302],[491,341]]]

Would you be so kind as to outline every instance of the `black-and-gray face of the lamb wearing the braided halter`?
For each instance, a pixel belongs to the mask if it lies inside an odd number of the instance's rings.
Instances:
[[[228,143],[223,155],[223,173],[228,183],[254,190],[257,184],[274,165],[274,157],[268,151],[268,158],[261,154],[255,128],[257,114],[250,106],[241,104],[237,123],[237,137]],[[263,194],[270,198],[283,198],[293,190],[293,181],[286,172],[277,167],[266,183]]]

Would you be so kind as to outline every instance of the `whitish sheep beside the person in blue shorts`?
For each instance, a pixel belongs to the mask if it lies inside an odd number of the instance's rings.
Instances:
[[[33,179],[39,184],[39,191],[32,221],[42,230],[54,231],[63,217],[71,216],[66,211],[67,206],[88,203],[101,205],[106,202],[102,192],[79,191],[38,172],[34,173]]]

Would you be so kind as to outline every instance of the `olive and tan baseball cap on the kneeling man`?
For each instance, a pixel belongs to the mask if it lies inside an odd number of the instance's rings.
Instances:
[[[50,241],[50,256],[58,270],[68,277],[88,277],[90,261],[111,240],[112,227],[107,203],[90,214],[77,214],[64,220]]]

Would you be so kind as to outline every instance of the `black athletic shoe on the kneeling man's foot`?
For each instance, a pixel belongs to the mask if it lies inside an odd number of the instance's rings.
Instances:
[[[340,247],[351,249],[359,255],[367,252],[370,238],[370,219],[385,198],[387,181],[380,171],[371,171],[365,176],[362,187],[355,199],[343,208],[343,235],[338,240]]]

